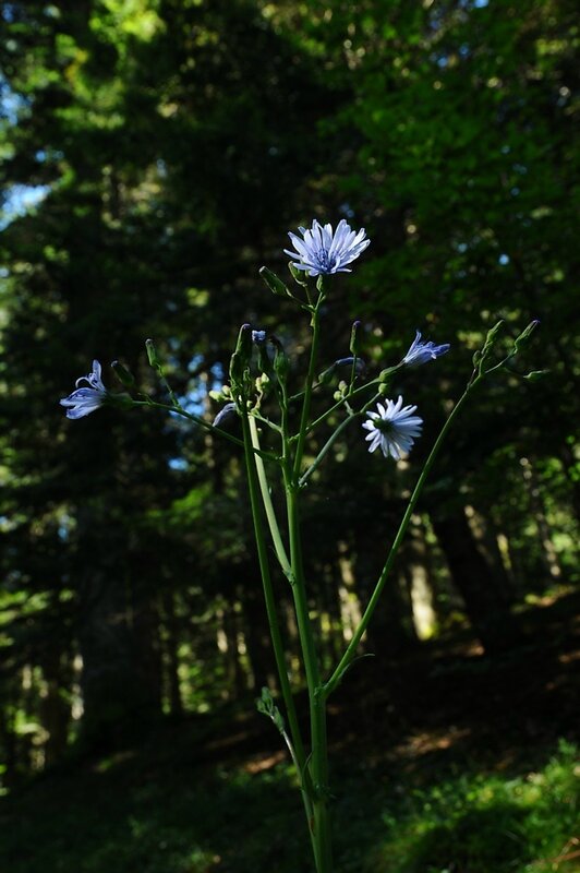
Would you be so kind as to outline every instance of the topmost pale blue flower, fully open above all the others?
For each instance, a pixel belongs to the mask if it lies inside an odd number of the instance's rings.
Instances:
[[[292,266],[304,270],[309,276],[319,276],[329,273],[350,273],[347,264],[352,263],[371,243],[365,239],[364,228],[358,234],[350,229],[350,225],[342,218],[337,229],[333,232],[333,225],[318,224],[316,218],[312,227],[299,228],[302,239],[295,234],[288,236],[292,240],[295,251],[285,249],[285,254],[294,258]]]

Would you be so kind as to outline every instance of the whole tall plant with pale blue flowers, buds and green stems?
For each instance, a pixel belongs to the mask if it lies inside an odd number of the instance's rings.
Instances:
[[[168,391],[168,403],[154,402],[146,395],[132,398],[128,394],[109,392],[101,380],[100,364],[98,361],[94,361],[92,373],[77,380],[76,390],[69,397],[62,399],[61,404],[67,407],[68,417],[73,419],[87,416],[107,404],[156,407],[192,419],[213,433],[243,449],[264,599],[283,714],[275,702],[273,691],[267,687],[262,690],[257,706],[279,730],[295,766],[315,869],[317,873],[330,873],[333,870],[329,814],[331,794],[326,739],[328,698],[358,655],[361,639],[389,578],[395,557],[406,535],[411,515],[452,422],[468,397],[485,376],[506,367],[518,354],[528,342],[537,322],[528,325],[515,340],[509,352],[499,360],[495,356],[502,322],[498,322],[487,333],[482,349],[475,352],[473,371],[466,391],[451,409],[426,457],[362,618],[341,657],[325,675],[309,614],[309,589],[302,558],[300,504],[304,486],[331,451],[339,434],[353,421],[359,422],[361,430],[367,431],[365,439],[368,442],[370,452],[380,449],[384,457],[391,462],[398,462],[406,456],[412,450],[414,441],[421,435],[423,419],[415,415],[416,406],[403,406],[402,396],[399,396],[397,400],[387,396],[390,393],[394,376],[396,373],[402,373],[406,368],[414,368],[436,360],[449,350],[449,345],[445,343],[437,346],[433,342],[422,342],[421,333],[418,331],[409,350],[399,363],[384,369],[373,379],[363,381],[363,376],[366,374],[366,364],[360,356],[361,323],[355,321],[351,331],[350,355],[337,359],[322,373],[318,373],[321,324],[324,304],[327,301],[329,277],[336,273],[350,272],[347,265],[353,263],[365,251],[370,240],[363,229],[355,232],[351,230],[346,220],[339,222],[335,231],[333,231],[331,225],[323,226],[314,220],[310,229],[301,227],[300,232],[302,238],[290,234],[295,251],[285,250],[293,259],[290,272],[295,288],[294,286],[289,288],[266,267],[261,270],[262,277],[274,294],[292,298],[310,316],[312,332],[310,360],[302,390],[298,394],[289,394],[290,364],[280,340],[259,327],[252,328],[250,324],[243,324],[231,356],[229,385],[223,386],[215,395],[216,398],[223,402],[223,406],[213,422],[181,406],[165,379],[162,362],[150,339],[146,342],[148,360]],[[132,375],[117,361],[113,363],[113,368],[123,386],[131,390],[134,385]],[[334,393],[333,403],[326,411],[313,418],[311,409],[314,392],[328,385],[337,372],[345,372],[347,378],[340,381]],[[78,387],[81,382],[86,382],[87,386]],[[264,404],[266,398],[271,397],[276,400],[277,411],[270,417],[264,412]],[[299,412],[294,417],[297,406]],[[340,423],[335,427],[315,456],[313,458],[309,456],[306,463],[309,438],[323,426],[328,424],[336,414],[342,414]],[[237,417],[240,420],[241,440],[223,427],[230,417]],[[262,441],[266,432],[271,433],[277,441],[275,450],[263,449]],[[282,518],[280,518],[280,513],[275,510],[271,498],[271,492],[277,488],[281,488],[285,499]],[[288,581],[293,598],[302,667],[309,694],[310,729],[307,738],[299,723],[287,669],[285,645],[273,587],[271,550],[279,570]]]

